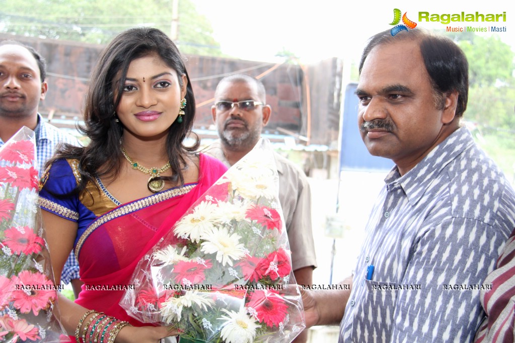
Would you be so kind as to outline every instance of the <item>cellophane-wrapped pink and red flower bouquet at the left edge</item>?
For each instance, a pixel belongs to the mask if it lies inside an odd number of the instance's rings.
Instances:
[[[35,134],[23,127],[0,148],[0,342],[58,341],[62,332],[35,166]]]

